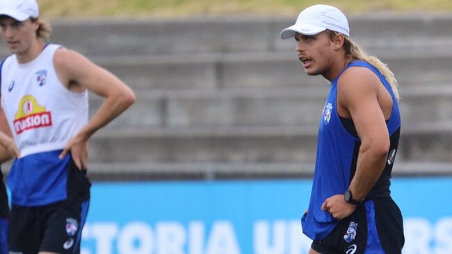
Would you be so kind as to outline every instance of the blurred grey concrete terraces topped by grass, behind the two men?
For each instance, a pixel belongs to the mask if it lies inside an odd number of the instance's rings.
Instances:
[[[310,177],[328,81],[279,32],[316,1],[38,1],[63,44],[136,103],[90,141],[92,180]],[[394,71],[395,176],[452,173],[452,3],[326,1]],[[8,56],[5,46],[0,56]],[[90,96],[92,115],[102,102]]]

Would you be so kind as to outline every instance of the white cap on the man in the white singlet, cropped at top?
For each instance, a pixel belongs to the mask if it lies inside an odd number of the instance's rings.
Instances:
[[[0,15],[6,15],[23,22],[30,17],[39,17],[35,0],[0,0]]]

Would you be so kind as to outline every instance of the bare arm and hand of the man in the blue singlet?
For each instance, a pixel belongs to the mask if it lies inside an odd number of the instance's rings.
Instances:
[[[382,103],[384,99],[379,99],[379,96],[385,96],[382,95],[382,87],[379,78],[362,67],[348,69],[338,83],[339,115],[353,119],[361,139],[355,176],[349,186],[355,200],[364,199],[386,163],[390,142],[384,109],[389,105]],[[344,219],[355,210],[355,205],[346,203],[341,194],[328,198],[323,208],[331,212],[334,218]]]

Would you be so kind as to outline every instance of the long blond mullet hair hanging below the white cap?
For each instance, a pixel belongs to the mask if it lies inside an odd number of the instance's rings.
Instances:
[[[333,39],[335,35],[337,35],[338,32],[335,31],[329,31],[330,32],[330,39]],[[363,60],[365,62],[369,62],[373,67],[376,67],[380,73],[385,76],[387,82],[389,85],[391,85],[392,92],[394,93],[394,96],[396,97],[397,101],[400,98],[398,95],[398,83],[396,80],[396,77],[392,73],[392,71],[387,67],[387,65],[382,62],[380,59],[376,58],[375,56],[371,56],[369,53],[364,51],[361,46],[353,42],[349,37],[344,36],[344,49],[346,51],[346,57],[348,58],[348,62],[351,62],[353,60]]]

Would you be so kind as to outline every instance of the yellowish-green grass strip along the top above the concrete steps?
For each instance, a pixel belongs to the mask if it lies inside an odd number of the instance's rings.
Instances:
[[[450,0],[38,0],[45,17],[183,17],[187,15],[293,15],[315,3],[345,12],[446,11]]]

